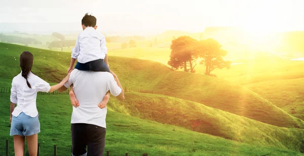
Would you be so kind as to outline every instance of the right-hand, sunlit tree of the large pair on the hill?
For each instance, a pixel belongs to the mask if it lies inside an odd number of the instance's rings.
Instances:
[[[214,69],[230,68],[231,62],[224,61],[222,57],[227,55],[227,51],[221,48],[221,45],[212,38],[200,40],[197,46],[198,55],[203,58],[203,63],[206,66],[206,75]]]

